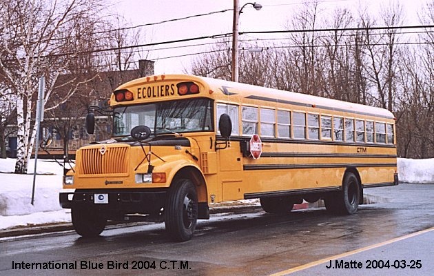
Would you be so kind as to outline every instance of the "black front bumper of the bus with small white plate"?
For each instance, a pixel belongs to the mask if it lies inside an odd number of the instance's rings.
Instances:
[[[59,194],[62,208],[96,208],[112,215],[158,214],[165,205],[168,188],[77,189]],[[95,204],[95,194],[107,194],[107,204]]]

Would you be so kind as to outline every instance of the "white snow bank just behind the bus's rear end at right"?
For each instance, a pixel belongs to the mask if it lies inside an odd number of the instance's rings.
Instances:
[[[434,158],[397,159],[400,182],[434,183]]]

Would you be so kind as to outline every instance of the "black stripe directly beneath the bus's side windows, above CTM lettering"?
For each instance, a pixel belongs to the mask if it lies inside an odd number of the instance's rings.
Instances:
[[[216,137],[218,141],[225,141],[220,135]],[[231,136],[230,141],[249,141],[248,136]],[[282,144],[309,144],[309,145],[331,145],[331,146],[364,146],[375,148],[396,148],[394,144],[368,144],[368,143],[351,143],[344,141],[321,141],[321,140],[307,140],[307,139],[282,139],[282,138],[269,138],[260,137],[260,140],[265,143],[282,143]]]

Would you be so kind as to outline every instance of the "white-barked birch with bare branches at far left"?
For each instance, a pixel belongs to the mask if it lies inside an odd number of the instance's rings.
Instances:
[[[74,49],[79,50],[74,47],[79,34],[73,27],[79,22],[82,29],[92,28],[101,5],[98,0],[18,0],[2,1],[1,5],[0,20],[5,28],[1,39],[7,55],[0,57],[0,73],[17,95],[15,172],[25,173],[37,133],[32,110],[38,78],[44,75],[47,79],[45,102],[49,102],[57,77],[76,57]]]

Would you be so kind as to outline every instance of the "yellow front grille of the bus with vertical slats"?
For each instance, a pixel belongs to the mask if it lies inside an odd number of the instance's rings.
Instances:
[[[101,150],[103,147],[105,150]],[[81,149],[80,174],[118,175],[127,173],[129,148],[129,146],[101,146]]]

